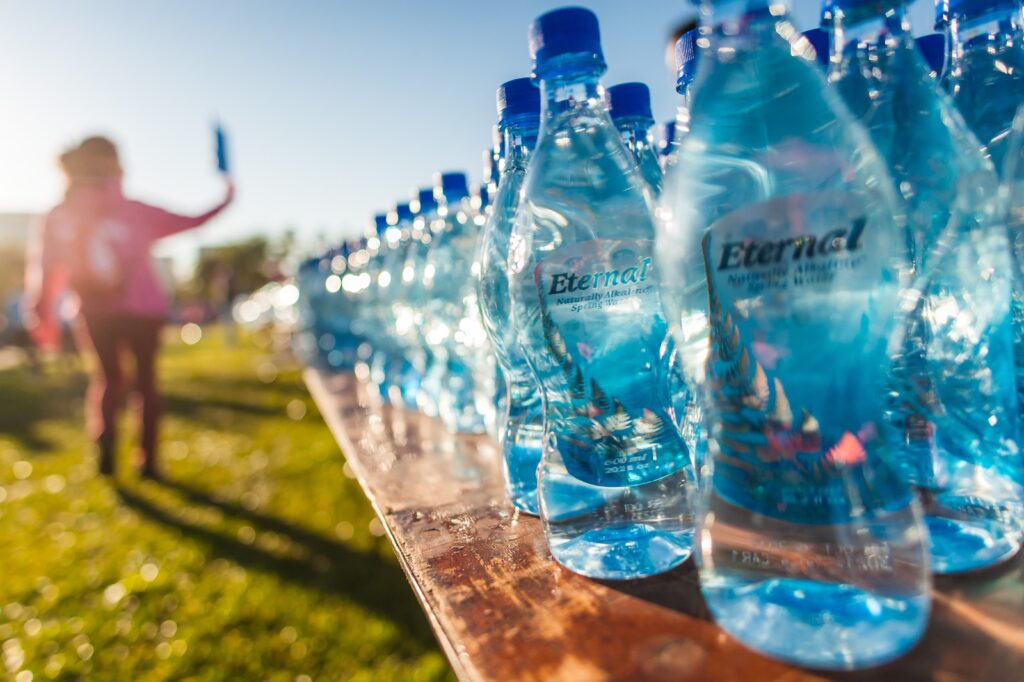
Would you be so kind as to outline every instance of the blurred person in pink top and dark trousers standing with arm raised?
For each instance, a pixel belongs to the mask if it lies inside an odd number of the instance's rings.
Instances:
[[[169,303],[150,249],[223,211],[234,197],[234,185],[225,177],[220,204],[202,215],[183,216],[125,198],[117,146],[105,137],[82,140],[61,154],[58,164],[67,190],[29,246],[26,322],[39,345],[56,345],[60,331],[53,302],[66,286],[77,295],[77,345],[94,359],[87,424],[104,475],[114,473],[117,419],[126,392],[122,355],[133,356],[141,401],[141,473],[159,477],[156,357]]]

